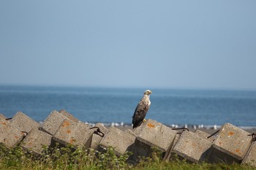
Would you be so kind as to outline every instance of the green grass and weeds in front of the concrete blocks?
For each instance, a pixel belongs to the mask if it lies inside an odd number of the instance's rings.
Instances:
[[[42,155],[34,156],[21,147],[7,149],[0,145],[0,169],[256,169],[239,164],[187,163],[178,159],[165,162],[159,158],[158,152],[153,152],[151,157],[143,158],[143,161],[132,166],[126,163],[130,154],[117,157],[113,148],[100,153],[72,146],[57,146],[53,149],[45,147]]]

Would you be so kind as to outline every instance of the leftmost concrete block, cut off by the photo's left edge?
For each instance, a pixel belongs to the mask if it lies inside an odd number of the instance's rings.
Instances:
[[[0,143],[15,147],[23,139],[23,133],[12,123],[0,117]]]

